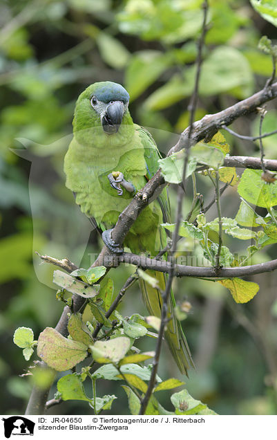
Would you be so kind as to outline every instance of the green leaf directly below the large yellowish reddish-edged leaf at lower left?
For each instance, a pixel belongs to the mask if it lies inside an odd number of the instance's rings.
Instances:
[[[86,396],[81,378],[75,373],[60,378],[57,382],[57,390],[61,393],[63,401],[91,401],[91,398]]]

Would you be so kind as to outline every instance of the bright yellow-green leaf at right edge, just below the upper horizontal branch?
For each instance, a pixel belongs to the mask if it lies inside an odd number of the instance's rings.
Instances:
[[[238,184],[238,194],[256,206],[269,209],[277,205],[277,184],[265,183],[261,175],[260,169],[245,169]]]

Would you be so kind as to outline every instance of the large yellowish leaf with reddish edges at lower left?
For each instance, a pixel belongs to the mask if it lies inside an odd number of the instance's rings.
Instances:
[[[86,358],[87,348],[82,342],[64,338],[57,330],[46,327],[39,335],[37,356],[49,367],[64,372]]]

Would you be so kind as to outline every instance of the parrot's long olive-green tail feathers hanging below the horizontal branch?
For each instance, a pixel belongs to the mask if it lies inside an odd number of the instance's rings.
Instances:
[[[156,271],[147,271],[147,273],[158,280],[160,290],[164,291],[166,285],[166,275],[162,272]],[[146,283],[142,278],[140,278],[140,289],[142,291],[142,297],[149,313],[160,318],[162,297],[158,289]],[[171,291],[171,297],[168,304],[169,322],[166,325],[164,336],[171,350],[171,354],[175,359],[178,368],[180,369],[180,372],[182,374],[188,375],[187,370],[190,367],[194,368],[195,366],[191,358],[191,351],[189,350],[187,339],[184,336],[184,332],[182,331],[180,321],[178,321],[175,317],[174,308],[175,299],[173,296],[173,292]]]

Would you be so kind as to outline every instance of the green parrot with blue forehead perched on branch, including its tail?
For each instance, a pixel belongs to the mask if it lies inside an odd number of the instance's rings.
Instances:
[[[155,174],[160,158],[151,134],[133,123],[128,102],[129,95],[120,84],[106,81],[88,86],[76,103],[74,136],[64,160],[66,186],[114,253],[122,249],[113,242],[111,228],[135,192]],[[136,254],[157,255],[166,246],[166,232],[160,227],[163,221],[170,221],[166,190],[135,219],[124,246]],[[166,275],[148,272],[164,290]],[[140,288],[149,313],[160,317],[160,291],[143,279],[140,279]],[[165,338],[180,372],[187,374],[193,360],[174,307],[171,292]]]

